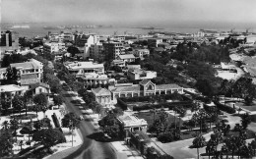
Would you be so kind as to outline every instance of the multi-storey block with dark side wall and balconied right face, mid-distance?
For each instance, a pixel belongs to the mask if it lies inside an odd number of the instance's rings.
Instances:
[[[108,60],[115,60],[118,55],[124,53],[122,42],[108,41],[103,43],[104,53],[107,55]]]

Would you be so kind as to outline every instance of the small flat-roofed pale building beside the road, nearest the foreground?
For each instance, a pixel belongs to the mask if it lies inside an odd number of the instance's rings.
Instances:
[[[125,136],[130,136],[131,132],[141,131],[147,132],[148,123],[144,119],[139,119],[126,112],[122,116],[119,116],[117,120],[124,126]]]

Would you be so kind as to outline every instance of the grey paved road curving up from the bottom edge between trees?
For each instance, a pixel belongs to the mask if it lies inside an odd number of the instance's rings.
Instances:
[[[65,95],[65,103],[70,112],[74,112],[77,116],[82,115],[78,106],[71,103],[76,98],[69,96],[72,92]],[[89,138],[87,135],[95,132],[95,127],[91,122],[82,121],[80,124],[80,132],[83,136],[83,144],[62,152],[56,153],[48,159],[115,159],[116,154],[109,143],[98,142]]]

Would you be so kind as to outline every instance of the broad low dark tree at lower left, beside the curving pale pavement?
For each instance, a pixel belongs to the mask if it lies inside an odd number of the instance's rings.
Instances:
[[[63,133],[59,130],[53,129],[46,129],[34,132],[32,135],[32,139],[40,142],[48,149],[55,144],[66,142],[66,138]]]

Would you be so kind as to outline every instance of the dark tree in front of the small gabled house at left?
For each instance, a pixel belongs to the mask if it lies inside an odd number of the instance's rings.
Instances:
[[[36,116],[38,111],[43,111],[44,116],[45,116],[45,111],[47,110],[47,105],[48,105],[48,98],[44,93],[36,94],[33,97],[33,103],[35,104],[35,111],[36,111]]]

